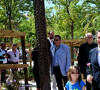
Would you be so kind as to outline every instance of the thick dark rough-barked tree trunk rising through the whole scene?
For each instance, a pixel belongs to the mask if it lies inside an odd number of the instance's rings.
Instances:
[[[51,90],[44,0],[33,0],[41,90]]]

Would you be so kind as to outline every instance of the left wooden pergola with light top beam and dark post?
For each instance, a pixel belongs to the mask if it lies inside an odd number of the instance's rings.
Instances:
[[[0,38],[20,38],[21,39],[21,46],[22,46],[22,60],[23,64],[26,66],[24,68],[24,76],[25,76],[25,85],[28,84],[28,76],[27,76],[27,64],[26,64],[26,53],[25,53],[25,32],[17,32],[17,31],[11,31],[11,30],[0,30]],[[5,64],[6,65],[6,64]],[[4,67],[8,67],[9,65],[6,65]],[[20,68],[23,65],[17,65],[17,68]],[[12,68],[12,66],[10,67]],[[0,65],[0,69],[2,69],[2,66]],[[25,87],[26,90],[29,90],[28,87]]]

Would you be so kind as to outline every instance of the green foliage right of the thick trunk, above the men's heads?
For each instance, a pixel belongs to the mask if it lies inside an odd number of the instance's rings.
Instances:
[[[51,25],[55,34],[61,35],[63,39],[83,38],[85,33],[97,31],[99,26],[99,0],[48,0],[54,4],[55,14],[52,16]],[[83,1],[80,4],[80,1]],[[88,3],[87,3],[88,2]],[[98,18],[98,19],[97,19]],[[73,32],[71,24],[73,21]],[[47,30],[51,29],[47,26]]]

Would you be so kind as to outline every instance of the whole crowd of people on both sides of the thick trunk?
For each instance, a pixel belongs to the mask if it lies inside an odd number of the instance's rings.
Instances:
[[[75,66],[71,65],[70,47],[61,43],[61,36],[54,35],[53,31],[48,33],[48,60],[51,62],[50,79],[54,90],[57,90],[57,87],[59,90],[64,90],[64,87],[66,90],[100,89],[100,30],[97,31],[97,43],[93,42],[92,33],[86,33],[85,39],[86,42],[79,48],[73,48],[74,58],[78,59],[78,66]],[[17,50],[16,44],[12,44],[12,48],[7,50],[5,46],[5,43],[1,43],[0,64],[19,64],[19,59],[22,59],[21,50]],[[29,59],[29,53],[26,52],[26,57]],[[32,60],[34,61],[33,73],[37,90],[41,90],[37,53],[38,46],[32,50]],[[15,69],[12,69],[12,73],[14,71]],[[2,76],[5,73],[4,70]],[[81,74],[84,75],[85,82]]]

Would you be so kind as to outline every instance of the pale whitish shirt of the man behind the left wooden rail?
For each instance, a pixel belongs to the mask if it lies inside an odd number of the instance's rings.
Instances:
[[[14,53],[12,51],[12,49],[8,50],[7,52],[9,55],[10,55],[10,58],[8,61],[11,61],[11,62],[18,62],[19,63],[19,51],[16,50],[16,52]]]

